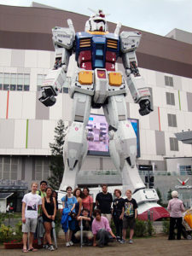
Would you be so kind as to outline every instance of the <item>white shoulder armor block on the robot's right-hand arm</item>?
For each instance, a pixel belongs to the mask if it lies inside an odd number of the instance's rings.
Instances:
[[[135,50],[141,40],[140,32],[121,32],[120,33],[120,49],[123,53]]]

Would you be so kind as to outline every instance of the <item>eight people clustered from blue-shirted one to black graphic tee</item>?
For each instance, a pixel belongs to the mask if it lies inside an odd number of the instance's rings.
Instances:
[[[67,195],[61,199],[61,224],[67,247],[73,246],[73,235],[77,240],[80,239],[80,226],[83,228],[84,241],[88,245],[103,247],[113,239],[125,243],[128,227],[129,242],[133,242],[137,202],[131,198],[131,190],[126,191],[126,199],[121,197],[119,189],[114,190],[114,195],[113,200],[113,196],[108,192],[108,185],[102,184],[102,192],[96,195],[96,210],[93,212],[93,198],[89,195],[87,187],[82,191],[79,188],[73,191],[70,186],[67,187]],[[116,229],[115,235],[110,227],[112,218]]]

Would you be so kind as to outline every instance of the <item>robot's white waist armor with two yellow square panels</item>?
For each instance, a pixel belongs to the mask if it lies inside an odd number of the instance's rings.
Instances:
[[[95,103],[103,104],[108,96],[126,94],[125,79],[120,72],[108,72],[104,68],[80,70],[75,75],[71,95],[75,91],[93,96]]]

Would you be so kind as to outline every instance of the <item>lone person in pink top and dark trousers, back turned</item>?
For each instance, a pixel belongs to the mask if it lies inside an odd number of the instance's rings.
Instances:
[[[174,228],[175,225],[177,227],[177,240],[181,239],[181,231],[182,231],[182,217],[184,207],[183,207],[183,201],[178,199],[178,192],[172,191],[172,199],[168,203],[167,207],[168,211],[170,212],[170,229],[169,229],[169,238],[168,240],[174,240],[175,234],[174,234]]]

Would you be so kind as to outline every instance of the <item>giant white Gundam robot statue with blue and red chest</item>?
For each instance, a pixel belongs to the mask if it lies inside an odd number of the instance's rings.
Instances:
[[[140,205],[140,212],[154,207],[158,195],[154,189],[146,189],[136,166],[137,137],[127,118],[125,96],[129,88],[139,113],[152,111],[150,93],[137,68],[136,49],[141,40],[140,32],[120,32],[117,24],[113,33],[108,32],[102,10],[90,16],[84,32],[75,33],[72,20],[68,27],[53,28],[55,66],[44,80],[40,102],[49,107],[55,104],[67,79],[70,56],[75,54],[76,71],[69,88],[73,98],[72,125],[67,131],[64,144],[65,172],[60,190],[67,185],[77,185],[77,174],[87,154],[86,125],[91,108],[103,108],[108,121],[109,150],[114,166],[122,175],[123,188],[131,189]],[[125,76],[116,70],[121,57]]]

